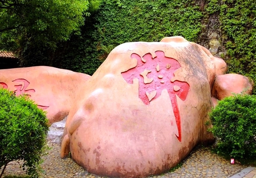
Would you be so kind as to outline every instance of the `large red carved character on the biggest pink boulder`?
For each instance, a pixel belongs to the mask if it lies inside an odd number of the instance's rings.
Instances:
[[[163,89],[167,89],[178,127],[179,136],[176,136],[181,141],[180,113],[176,95],[184,101],[187,98],[190,86],[187,82],[178,80],[171,82],[174,72],[181,67],[176,59],[165,57],[163,51],[156,51],[155,54],[156,56],[152,57],[150,53],[147,53],[142,58],[138,54],[131,54],[131,58],[137,59],[137,66],[123,72],[122,76],[129,84],[133,83],[134,78],[139,80],[139,98],[146,105],[150,104],[150,101],[158,98]],[[145,78],[146,81],[144,80]],[[156,94],[152,96],[152,99],[146,94],[155,92]]]

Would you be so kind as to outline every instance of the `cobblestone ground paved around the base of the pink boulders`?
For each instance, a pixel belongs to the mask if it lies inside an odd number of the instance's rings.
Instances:
[[[52,149],[48,151],[49,154],[47,156],[44,156],[44,162],[41,165],[43,168],[43,178],[101,178],[88,173],[70,158],[61,159],[59,156],[59,144],[48,143],[48,145],[52,147]],[[245,168],[245,166],[239,163],[230,164],[230,160],[224,160],[204,147],[195,148],[182,163],[182,166],[173,172],[152,177],[228,178]],[[20,168],[21,164],[22,163],[18,163],[17,161],[11,162],[5,170],[5,175],[24,174],[24,171]]]

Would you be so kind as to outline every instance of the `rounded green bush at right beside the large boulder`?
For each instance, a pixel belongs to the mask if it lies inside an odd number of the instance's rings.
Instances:
[[[256,158],[256,96],[240,95],[219,101],[209,113],[210,131],[219,139],[217,153],[231,158]]]

